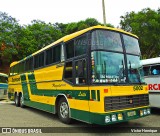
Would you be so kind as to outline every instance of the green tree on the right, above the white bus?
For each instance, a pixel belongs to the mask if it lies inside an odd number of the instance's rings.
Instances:
[[[143,58],[152,58],[160,55],[160,9],[150,8],[135,13],[126,13],[121,16],[121,28],[132,32],[139,37]]]

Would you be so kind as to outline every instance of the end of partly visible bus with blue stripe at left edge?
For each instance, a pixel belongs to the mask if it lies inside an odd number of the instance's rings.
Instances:
[[[8,75],[0,73],[0,100],[7,98]]]

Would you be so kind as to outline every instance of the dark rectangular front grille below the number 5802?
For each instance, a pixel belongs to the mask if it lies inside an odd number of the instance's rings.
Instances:
[[[105,111],[121,110],[149,105],[148,94],[105,97]]]

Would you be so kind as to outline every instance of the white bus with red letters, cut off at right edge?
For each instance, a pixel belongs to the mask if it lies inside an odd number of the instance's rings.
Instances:
[[[160,108],[160,57],[141,60],[151,107]]]

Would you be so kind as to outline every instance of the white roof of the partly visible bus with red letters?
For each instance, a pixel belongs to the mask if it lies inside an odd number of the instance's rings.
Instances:
[[[141,64],[143,66],[145,66],[145,65],[151,65],[151,64],[158,64],[158,63],[160,63],[160,57],[141,60]]]

